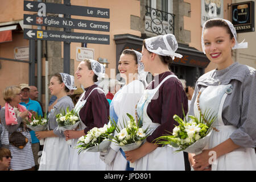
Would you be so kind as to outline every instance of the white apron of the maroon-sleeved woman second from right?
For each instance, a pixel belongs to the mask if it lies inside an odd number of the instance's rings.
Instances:
[[[175,77],[175,75],[169,75],[155,88],[152,90],[145,90],[141,100],[137,105],[137,113],[142,116],[143,129],[150,126],[150,131],[154,131],[160,124],[153,123],[147,115],[147,106],[151,102],[152,98],[158,92],[160,86],[168,78]],[[171,109],[171,108],[170,108]],[[138,159],[135,162],[134,171],[159,171],[159,170],[185,170],[183,152],[174,153],[174,149],[169,146],[158,147],[154,151],[150,152],[143,158]]]

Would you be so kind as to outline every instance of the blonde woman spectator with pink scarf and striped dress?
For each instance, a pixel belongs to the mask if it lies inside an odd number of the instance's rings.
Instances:
[[[31,148],[30,132],[26,128],[25,119],[31,117],[21,102],[21,89],[17,86],[7,86],[3,91],[6,104],[0,110],[2,122],[2,146],[9,148],[13,159],[11,168],[15,170],[33,170],[35,166]]]

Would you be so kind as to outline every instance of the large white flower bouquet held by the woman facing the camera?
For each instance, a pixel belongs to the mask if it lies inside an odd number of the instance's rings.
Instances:
[[[179,126],[175,126],[171,135],[156,138],[156,143],[168,144],[176,148],[176,152],[185,151],[199,154],[208,142],[216,116],[213,113],[211,114],[210,110],[207,110],[204,114],[200,112],[200,118],[192,115],[188,115],[188,117],[190,118],[189,121],[187,121],[184,114],[183,121],[175,114],[174,120],[179,123]]]

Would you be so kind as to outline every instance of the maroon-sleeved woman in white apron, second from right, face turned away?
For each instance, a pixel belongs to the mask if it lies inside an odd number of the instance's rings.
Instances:
[[[141,147],[125,152],[127,160],[135,162],[134,170],[184,170],[183,152],[177,154],[168,146],[159,146],[154,140],[170,134],[174,125],[174,114],[183,118],[188,110],[187,96],[179,79],[169,69],[174,57],[177,41],[172,34],[145,39],[142,47],[144,70],[152,73],[150,82],[137,105],[143,129],[150,128],[151,135]]]

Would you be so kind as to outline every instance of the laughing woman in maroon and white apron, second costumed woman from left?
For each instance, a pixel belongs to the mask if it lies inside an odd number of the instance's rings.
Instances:
[[[103,127],[108,123],[109,102],[104,91],[95,84],[105,75],[105,67],[96,60],[85,59],[77,67],[75,72],[77,82],[85,88],[77,101],[75,111],[79,113],[81,120],[79,128],[64,131],[66,140],[72,139],[69,154],[68,170],[95,171],[105,170],[105,163],[100,160],[100,152],[84,152],[78,154],[77,140],[86,135],[93,127]]]

